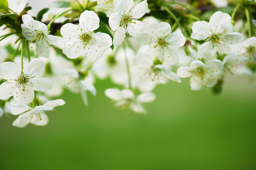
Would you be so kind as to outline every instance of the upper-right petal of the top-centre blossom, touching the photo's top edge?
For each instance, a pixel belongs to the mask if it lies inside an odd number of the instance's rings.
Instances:
[[[137,5],[134,5],[130,10],[132,18],[139,19],[143,17],[148,9],[148,3],[146,0],[139,2]]]

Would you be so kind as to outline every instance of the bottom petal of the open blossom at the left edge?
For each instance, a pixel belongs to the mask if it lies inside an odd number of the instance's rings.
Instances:
[[[13,98],[17,103],[27,104],[33,101],[34,96],[35,93],[31,87],[25,86],[25,91],[22,91],[22,86],[20,86],[15,89]]]

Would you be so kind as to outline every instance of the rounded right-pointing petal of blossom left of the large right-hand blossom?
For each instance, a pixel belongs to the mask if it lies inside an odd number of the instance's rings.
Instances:
[[[171,33],[166,37],[166,42],[169,46],[181,47],[185,44],[186,38],[182,33]]]

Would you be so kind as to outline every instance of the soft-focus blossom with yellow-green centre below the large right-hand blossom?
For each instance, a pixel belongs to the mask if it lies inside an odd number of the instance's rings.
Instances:
[[[213,87],[217,83],[217,76],[222,73],[223,64],[220,60],[211,60],[204,64],[200,60],[191,62],[190,66],[181,66],[177,70],[177,75],[190,79],[191,90],[200,90],[204,85]]]

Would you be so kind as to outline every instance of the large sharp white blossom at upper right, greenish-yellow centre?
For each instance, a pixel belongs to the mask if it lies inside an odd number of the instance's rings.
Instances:
[[[209,23],[205,21],[195,22],[192,31],[191,38],[205,41],[198,49],[201,58],[216,53],[227,54],[231,50],[231,44],[243,41],[243,34],[234,32],[230,15],[221,11],[213,13]]]

